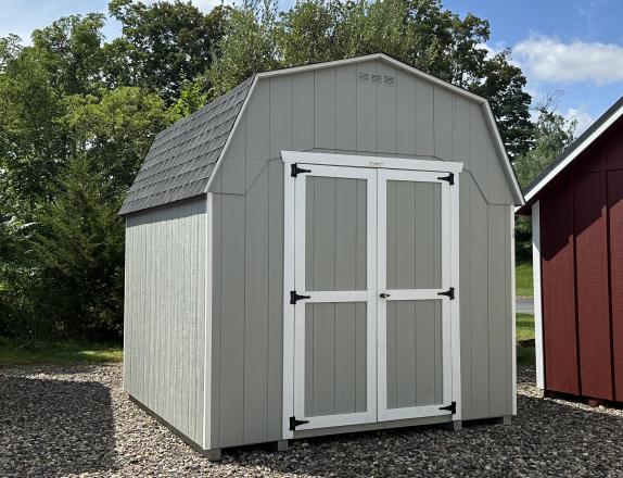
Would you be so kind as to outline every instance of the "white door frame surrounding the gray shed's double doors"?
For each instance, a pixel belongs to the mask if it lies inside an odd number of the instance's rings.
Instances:
[[[302,151],[281,151],[283,161],[283,395],[282,395],[282,438],[292,439],[290,417],[294,413],[294,306],[290,304],[290,291],[295,285],[295,178],[290,175],[295,163],[351,166],[366,168],[407,169],[454,174],[455,186],[450,188],[450,281],[455,285],[456,299],[450,302],[452,343],[452,400],[456,402],[454,420],[461,418],[460,407],[460,322],[459,322],[459,173],[461,162],[441,160],[419,160],[403,158],[365,156]],[[453,228],[455,224],[455,228]],[[374,284],[378,294],[378,284]],[[377,370],[374,370],[374,375]],[[376,389],[376,387],[374,387]],[[376,412],[376,411],[374,411]],[[328,427],[331,425],[327,425]]]

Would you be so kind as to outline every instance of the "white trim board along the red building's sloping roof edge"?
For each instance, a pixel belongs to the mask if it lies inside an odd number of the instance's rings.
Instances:
[[[623,116],[623,97],[603,113],[593,125],[573,141],[545,171],[543,171],[526,188],[525,201],[530,202],[545,188],[562,169],[582,154],[597,138]]]

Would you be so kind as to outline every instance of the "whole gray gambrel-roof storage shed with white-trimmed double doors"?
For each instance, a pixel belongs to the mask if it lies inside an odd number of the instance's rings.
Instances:
[[[125,390],[213,458],[508,419],[522,203],[475,95],[385,54],[255,75],[123,205]]]

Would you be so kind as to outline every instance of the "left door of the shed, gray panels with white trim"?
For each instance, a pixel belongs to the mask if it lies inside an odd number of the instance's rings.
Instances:
[[[377,173],[300,164],[295,178],[297,430],[377,419]],[[302,423],[304,422],[304,423]]]

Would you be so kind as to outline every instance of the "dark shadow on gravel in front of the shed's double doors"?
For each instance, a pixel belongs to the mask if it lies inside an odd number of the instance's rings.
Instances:
[[[295,441],[225,460],[246,467],[319,477],[623,476],[623,417],[602,410],[519,397],[511,426],[466,424],[461,431],[415,427]],[[227,452],[226,452],[227,453]]]

